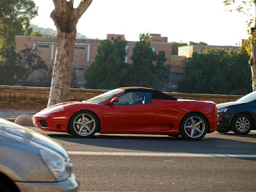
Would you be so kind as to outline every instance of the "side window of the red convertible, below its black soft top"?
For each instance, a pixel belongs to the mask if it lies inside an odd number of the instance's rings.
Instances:
[[[136,105],[149,104],[152,101],[152,94],[147,92],[129,92],[118,97],[119,101],[114,105]]]

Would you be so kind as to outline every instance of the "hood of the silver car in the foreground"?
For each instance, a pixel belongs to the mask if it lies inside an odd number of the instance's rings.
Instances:
[[[3,118],[0,118],[0,141],[8,141],[12,145],[16,143],[20,147],[23,145],[53,150],[65,158],[68,157],[67,151],[59,143]]]

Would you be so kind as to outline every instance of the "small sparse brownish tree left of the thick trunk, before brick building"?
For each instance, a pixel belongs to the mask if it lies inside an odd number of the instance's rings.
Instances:
[[[28,85],[28,77],[38,70],[48,70],[42,58],[36,54],[36,49],[27,47],[17,56],[17,76],[22,80],[22,85]]]

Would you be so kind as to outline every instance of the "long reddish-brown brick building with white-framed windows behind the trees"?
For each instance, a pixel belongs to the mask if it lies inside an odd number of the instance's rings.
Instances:
[[[113,40],[117,38],[118,40],[125,40],[124,35],[108,34],[107,39]],[[77,77],[79,82],[84,82],[84,70],[90,66],[90,64],[95,60],[97,55],[97,49],[100,46],[99,39],[90,38],[77,38],[74,46],[74,58],[72,61],[73,70],[77,72]],[[44,36],[15,36],[16,51],[19,52],[26,47],[33,47],[37,49],[38,54],[41,58],[48,64],[53,65],[54,57],[56,52],[56,37],[44,37]],[[131,56],[132,50],[136,42],[127,42],[127,58],[125,61],[127,64],[132,64]],[[164,51],[167,61],[165,65],[172,65],[172,44],[168,42],[152,42],[151,47],[153,51],[159,54],[160,51]],[[36,79],[36,76],[32,76]]]

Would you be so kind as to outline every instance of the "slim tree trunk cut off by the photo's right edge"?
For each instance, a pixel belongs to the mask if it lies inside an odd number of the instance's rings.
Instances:
[[[253,1],[253,3],[256,7],[256,1]],[[251,28],[251,35],[251,57],[249,65],[252,70],[252,90],[256,91],[256,18],[254,21],[254,27]]]

